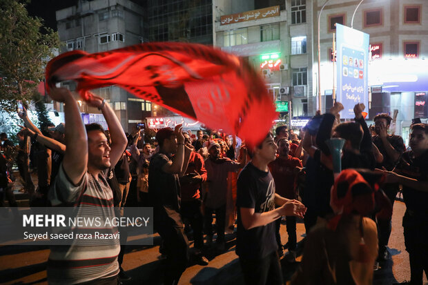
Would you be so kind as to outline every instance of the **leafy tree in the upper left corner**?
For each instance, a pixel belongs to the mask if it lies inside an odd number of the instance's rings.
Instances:
[[[0,23],[0,111],[14,112],[17,100],[28,103],[37,92],[60,41],[20,1],[0,0]]]

